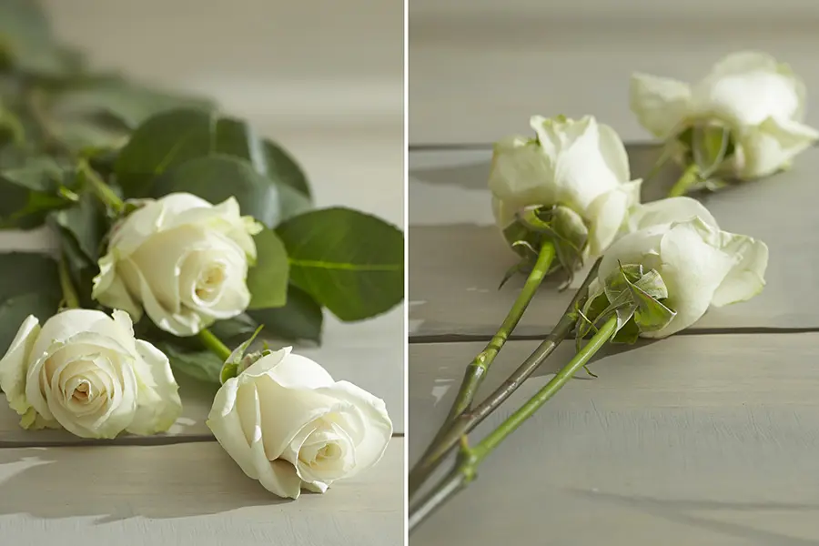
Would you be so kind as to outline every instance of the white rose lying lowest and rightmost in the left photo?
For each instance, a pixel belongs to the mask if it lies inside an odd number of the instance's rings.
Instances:
[[[207,426],[248,477],[292,499],[368,469],[392,435],[383,400],[290,348],[227,379]]]

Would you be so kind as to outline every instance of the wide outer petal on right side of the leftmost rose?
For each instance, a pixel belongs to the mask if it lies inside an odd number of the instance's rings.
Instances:
[[[138,385],[136,413],[127,430],[141,435],[165,432],[182,414],[177,380],[161,350],[137,339],[136,351],[140,357],[134,364]]]

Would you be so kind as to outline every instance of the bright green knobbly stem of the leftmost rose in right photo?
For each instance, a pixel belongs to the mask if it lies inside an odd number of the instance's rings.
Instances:
[[[521,293],[518,294],[518,298],[515,299],[509,313],[506,315],[506,319],[503,319],[501,327],[497,333],[492,336],[492,339],[490,339],[486,347],[484,347],[483,350],[480,351],[480,354],[467,366],[463,381],[460,383],[460,390],[450,408],[450,414],[447,416],[447,420],[444,421],[443,428],[449,426],[452,420],[455,420],[461,413],[470,409],[472,400],[475,399],[475,395],[480,388],[480,383],[486,378],[486,374],[489,372],[492,362],[495,357],[498,356],[506,340],[509,339],[512,330],[515,329],[515,327],[518,326],[518,322],[521,321],[523,312],[529,307],[531,298],[534,297],[535,292],[537,292],[541,286],[543,278],[546,277],[546,273],[549,271],[549,268],[551,268],[554,255],[554,244],[551,241],[543,243],[541,251],[538,254],[538,259],[531,269],[529,277],[526,278],[526,282],[523,284],[523,288],[521,288]]]

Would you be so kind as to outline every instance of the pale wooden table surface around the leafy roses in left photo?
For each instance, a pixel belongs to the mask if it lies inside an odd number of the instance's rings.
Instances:
[[[215,96],[247,117],[298,159],[319,207],[355,207],[404,226],[400,0],[45,4],[56,31],[95,66]],[[3,249],[49,244],[43,232],[0,232]],[[403,544],[404,307],[325,324],[323,346],[301,352],[384,399],[394,422],[375,468],[327,494],[281,501],[205,426],[215,390],[181,377],[183,416],[168,434],[102,446],[21,430],[0,395],[0,544]]]

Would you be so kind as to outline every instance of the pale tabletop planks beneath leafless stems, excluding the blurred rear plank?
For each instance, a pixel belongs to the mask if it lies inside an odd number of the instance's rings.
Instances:
[[[659,148],[628,151],[639,177]],[[410,465],[522,284],[497,288],[515,257],[492,226],[490,155],[485,146],[410,152]],[[819,544],[817,169],[811,149],[790,172],[705,200],[724,229],[769,245],[760,296],[669,339],[604,350],[591,363],[598,379],[579,374],[410,543]],[[662,196],[672,175],[643,199]],[[571,295],[541,288],[483,393],[531,353]],[[572,353],[562,345],[472,440]]]

